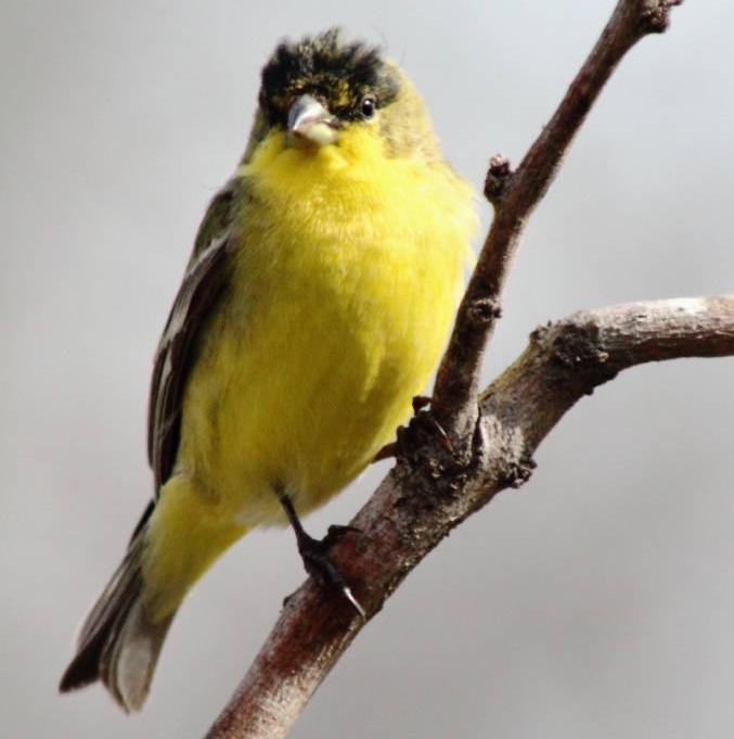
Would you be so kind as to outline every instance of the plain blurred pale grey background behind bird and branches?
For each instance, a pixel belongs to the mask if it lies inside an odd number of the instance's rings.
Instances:
[[[201,737],[304,579],[289,532],[255,533],[181,610],[141,715],[99,687],[56,695],[151,494],[153,353],[273,44],[333,24],[383,43],[480,189],[613,4],[3,1],[0,734]],[[734,290],[733,24],[725,0],[688,2],[624,60],[532,217],[488,381],[578,308]],[[530,483],[409,577],[293,736],[732,736],[733,433],[734,359],[633,369],[584,398]],[[387,469],[309,531],[349,520]]]

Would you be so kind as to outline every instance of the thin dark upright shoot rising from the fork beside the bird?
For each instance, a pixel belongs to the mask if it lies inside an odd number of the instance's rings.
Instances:
[[[667,28],[682,0],[620,0],[550,123],[512,174],[507,160],[490,162],[485,194],[494,219],[464,294],[434,388],[436,419],[461,448],[476,422],[485,346],[500,316],[500,297],[525,224],[561,166],[574,136],[624,54],[644,36]]]

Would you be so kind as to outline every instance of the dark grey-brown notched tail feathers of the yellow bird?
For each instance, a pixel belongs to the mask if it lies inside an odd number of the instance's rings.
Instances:
[[[143,514],[125,559],[87,616],[77,652],[61,679],[62,692],[102,680],[125,711],[139,711],[151,686],[176,611],[154,622],[143,606],[142,556],[147,520]]]

